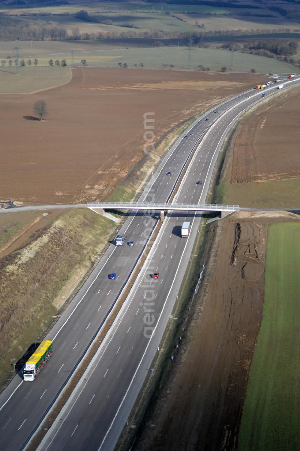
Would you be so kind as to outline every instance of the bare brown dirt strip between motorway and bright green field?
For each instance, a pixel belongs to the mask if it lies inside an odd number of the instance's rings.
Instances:
[[[213,226],[189,336],[134,450],[234,449],[262,319],[267,225],[283,220],[299,221],[235,213]]]

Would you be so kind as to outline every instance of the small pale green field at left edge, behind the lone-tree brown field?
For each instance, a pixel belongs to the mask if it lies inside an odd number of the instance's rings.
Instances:
[[[0,94],[28,94],[68,83],[70,79],[68,67],[21,67],[20,75],[16,75],[14,66],[1,68]]]

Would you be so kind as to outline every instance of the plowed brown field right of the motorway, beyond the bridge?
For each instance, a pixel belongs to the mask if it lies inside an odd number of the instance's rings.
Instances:
[[[300,177],[300,87],[282,91],[240,124],[234,143],[231,183]]]

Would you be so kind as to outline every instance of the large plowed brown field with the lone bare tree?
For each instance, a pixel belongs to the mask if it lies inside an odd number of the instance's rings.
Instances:
[[[261,80],[258,74],[78,68],[64,86],[1,95],[0,200],[103,199],[143,156],[144,113],[154,112],[158,139]],[[31,117],[41,99],[49,110],[43,122]]]

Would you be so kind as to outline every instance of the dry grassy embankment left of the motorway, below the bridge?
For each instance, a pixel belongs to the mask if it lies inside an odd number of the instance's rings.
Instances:
[[[114,229],[91,210],[68,210],[0,259],[0,388],[24,351],[45,335]]]

